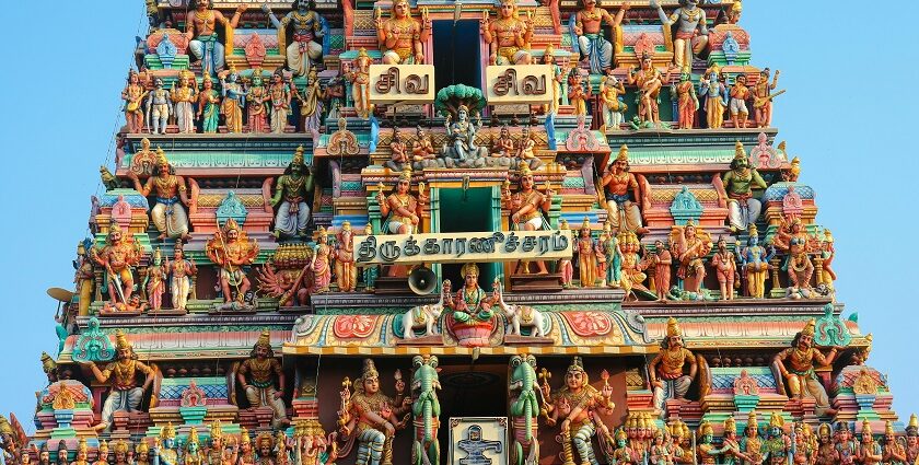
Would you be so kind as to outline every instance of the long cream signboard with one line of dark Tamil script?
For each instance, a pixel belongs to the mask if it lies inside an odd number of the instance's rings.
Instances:
[[[354,236],[358,265],[493,263],[571,258],[570,231],[376,234]]]

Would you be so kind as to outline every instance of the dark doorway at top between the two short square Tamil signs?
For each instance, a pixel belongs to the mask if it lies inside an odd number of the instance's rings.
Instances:
[[[481,40],[477,20],[434,21],[434,82],[437,89],[466,84],[481,89]]]

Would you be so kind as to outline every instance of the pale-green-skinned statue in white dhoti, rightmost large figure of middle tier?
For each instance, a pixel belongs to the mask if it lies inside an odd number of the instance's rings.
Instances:
[[[753,189],[765,189],[767,185],[759,172],[749,165],[741,141],[736,143],[731,171],[724,173],[722,183],[728,193],[728,220],[731,223],[731,231],[748,229],[759,218],[759,211],[763,208],[759,200],[753,198]]]

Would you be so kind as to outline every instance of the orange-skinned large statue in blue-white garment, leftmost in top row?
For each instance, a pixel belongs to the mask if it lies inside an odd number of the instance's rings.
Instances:
[[[240,16],[248,8],[245,3],[236,7],[233,16],[228,20],[219,10],[213,9],[213,0],[195,0],[194,13],[189,11],[185,21],[185,36],[188,37],[188,50],[201,61],[205,74],[223,70],[226,61],[225,47],[233,46],[233,30],[240,23]],[[217,23],[225,27],[224,44],[218,40]]]

